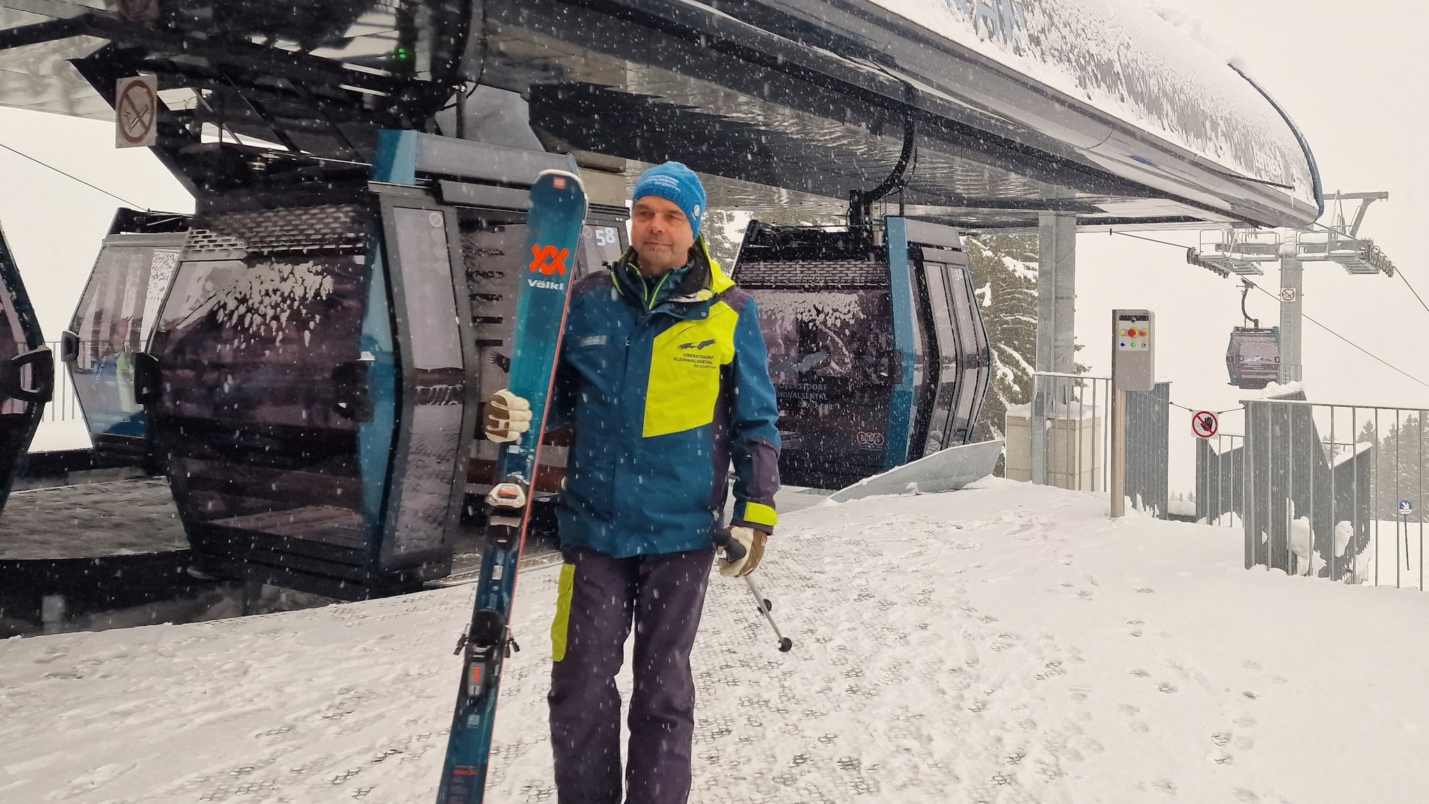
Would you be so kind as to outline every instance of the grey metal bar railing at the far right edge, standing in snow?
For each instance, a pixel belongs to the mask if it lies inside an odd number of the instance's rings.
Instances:
[[[1429,413],[1246,402],[1245,565],[1423,589]]]

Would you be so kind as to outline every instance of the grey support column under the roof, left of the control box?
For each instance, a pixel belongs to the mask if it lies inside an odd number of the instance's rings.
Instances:
[[[1037,219],[1037,355],[1039,372],[1076,369],[1076,216],[1043,212]],[[1070,388],[1067,383],[1060,383]],[[1046,484],[1047,412],[1053,383],[1032,383],[1032,482]]]

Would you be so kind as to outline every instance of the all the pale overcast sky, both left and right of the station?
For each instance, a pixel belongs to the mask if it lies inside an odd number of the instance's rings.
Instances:
[[[1209,37],[1266,87],[1310,142],[1326,190],[1388,190],[1362,235],[1373,237],[1429,299],[1425,209],[1423,82],[1429,56],[1423,6],[1409,0],[1157,0]],[[0,109],[0,143],[17,147],[151,209],[186,212],[191,200],[146,150],[116,150],[107,123]],[[64,329],[117,202],[51,170],[0,150],[3,225],[46,336]],[[1420,235],[1415,235],[1420,232]],[[1195,233],[1152,236],[1195,243]],[[1268,266],[1269,289],[1279,276]],[[1429,310],[1399,279],[1349,276],[1333,263],[1308,263],[1306,313],[1380,358],[1429,382]],[[1157,369],[1173,399],[1210,409],[1245,396],[1226,385],[1225,348],[1240,323],[1230,279],[1185,263],[1180,249],[1105,233],[1077,242],[1080,361],[1102,373],[1110,346],[1110,309],[1150,308],[1160,323]],[[1269,326],[1279,305],[1252,296],[1250,312]],[[1429,386],[1306,323],[1305,373],[1318,402],[1429,406]],[[1173,415],[1180,415],[1173,413]],[[1189,431],[1189,416],[1186,419]],[[1235,421],[1228,421],[1236,429]],[[1173,431],[1176,432],[1175,426]]]

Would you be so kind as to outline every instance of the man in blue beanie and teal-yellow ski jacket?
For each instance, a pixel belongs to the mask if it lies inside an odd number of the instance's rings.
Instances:
[[[773,531],[779,408],[755,300],[700,237],[704,189],[677,162],[640,176],[630,250],[572,288],[549,428],[572,425],[564,564],[552,625],[552,748],[560,804],[620,804],[614,677],[634,627],[626,804],[683,804],[690,791],[690,649],[712,538],[735,468],[730,535],[747,575]],[[529,405],[487,401],[486,432],[514,439]]]

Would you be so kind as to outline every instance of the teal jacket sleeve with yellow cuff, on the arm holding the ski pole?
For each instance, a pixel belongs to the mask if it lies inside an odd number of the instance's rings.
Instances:
[[[746,296],[735,325],[730,399],[730,459],[735,466],[735,511],[730,525],[772,534],[779,516],[779,402],[769,378],[769,349],[759,329],[759,309]]]

